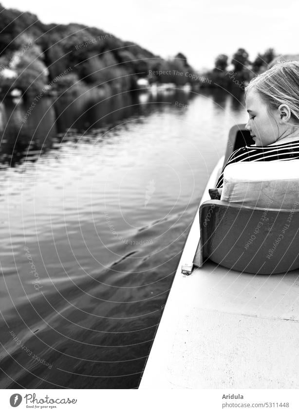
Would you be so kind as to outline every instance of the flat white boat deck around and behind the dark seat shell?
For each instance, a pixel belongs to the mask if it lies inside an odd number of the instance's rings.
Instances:
[[[184,276],[199,235],[197,212],[139,388],[298,389],[299,271],[253,275],[208,262]]]

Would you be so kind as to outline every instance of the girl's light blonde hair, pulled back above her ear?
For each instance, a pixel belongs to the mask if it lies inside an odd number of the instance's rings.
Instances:
[[[245,88],[255,89],[271,109],[288,105],[293,119],[299,123],[299,61],[279,62],[253,78]]]

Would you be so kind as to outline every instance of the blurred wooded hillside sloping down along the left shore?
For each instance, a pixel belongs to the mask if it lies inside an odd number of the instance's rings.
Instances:
[[[96,85],[111,91],[134,90],[145,77],[150,83],[196,83],[175,73],[195,73],[184,54],[165,60],[95,27],[43,24],[36,15],[0,5],[0,89],[38,93]],[[67,74],[61,76],[61,73]],[[166,72],[165,75],[149,75]],[[195,77],[195,76],[194,76]]]

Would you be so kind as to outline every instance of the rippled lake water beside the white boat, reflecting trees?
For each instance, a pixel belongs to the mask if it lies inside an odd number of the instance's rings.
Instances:
[[[0,106],[0,386],[136,388],[242,96],[31,104]]]

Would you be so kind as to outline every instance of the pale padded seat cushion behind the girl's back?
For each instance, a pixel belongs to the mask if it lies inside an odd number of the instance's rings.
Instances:
[[[237,162],[224,169],[221,200],[262,208],[299,205],[299,160]]]

